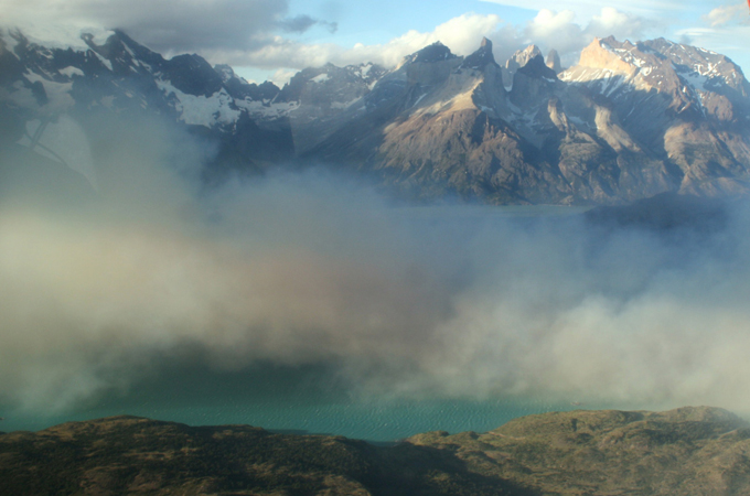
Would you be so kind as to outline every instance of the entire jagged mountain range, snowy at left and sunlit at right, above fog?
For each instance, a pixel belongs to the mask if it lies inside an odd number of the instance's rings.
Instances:
[[[103,116],[156,116],[214,143],[210,179],[321,164],[427,201],[612,205],[750,184],[742,71],[663,39],[596,39],[565,69],[534,45],[501,65],[486,39],[465,57],[435,43],[393,69],[328,64],[279,88],[195,54],[167,60],[121,31],[65,47],[6,29],[0,100],[3,144],[36,149],[89,182],[96,147],[82,159],[76,140],[76,153],[55,151],[45,132],[74,126],[67,134],[90,142]]]

